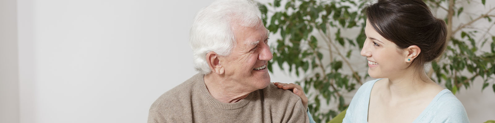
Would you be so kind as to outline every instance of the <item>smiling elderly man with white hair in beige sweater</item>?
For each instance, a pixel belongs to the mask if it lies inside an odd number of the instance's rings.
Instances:
[[[253,1],[201,9],[190,32],[199,73],[161,95],[148,123],[309,123],[301,98],[270,83],[268,33]]]

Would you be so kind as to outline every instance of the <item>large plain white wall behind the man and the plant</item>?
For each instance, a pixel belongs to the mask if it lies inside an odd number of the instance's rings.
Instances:
[[[213,0],[16,1],[20,123],[143,123],[159,95],[196,74],[189,29]],[[3,49],[13,37],[0,38]],[[296,79],[274,68],[272,81]],[[495,119],[494,93],[472,88],[457,95],[471,122]]]

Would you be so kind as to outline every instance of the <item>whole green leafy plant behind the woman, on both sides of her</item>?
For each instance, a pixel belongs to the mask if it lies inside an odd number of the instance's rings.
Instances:
[[[432,11],[447,13],[438,18],[445,19],[448,30],[446,51],[438,62],[432,62],[426,69],[428,75],[453,93],[462,87],[468,89],[475,78],[483,79],[481,90],[491,85],[495,92],[495,35],[489,32],[495,24],[492,21],[495,7],[480,15],[464,10],[462,5],[463,2],[484,5],[485,0],[425,2]],[[295,83],[308,95],[309,111],[317,123],[328,122],[345,110],[348,106],[345,94],[357,89],[369,77],[367,69],[363,69],[367,67],[366,60],[359,55],[366,38],[366,17],[362,12],[366,3],[369,1],[273,0],[260,4],[262,16],[266,18],[265,26],[271,33],[281,36],[275,39],[277,44],[272,45],[273,60],[268,68],[272,70],[272,63],[277,63],[280,69],[303,78]],[[447,6],[442,6],[445,4]],[[450,22],[459,21],[459,16],[471,19],[453,26]],[[486,20],[490,25],[472,26],[480,20]],[[488,45],[491,50],[480,50]],[[327,110],[322,106],[336,108]]]

